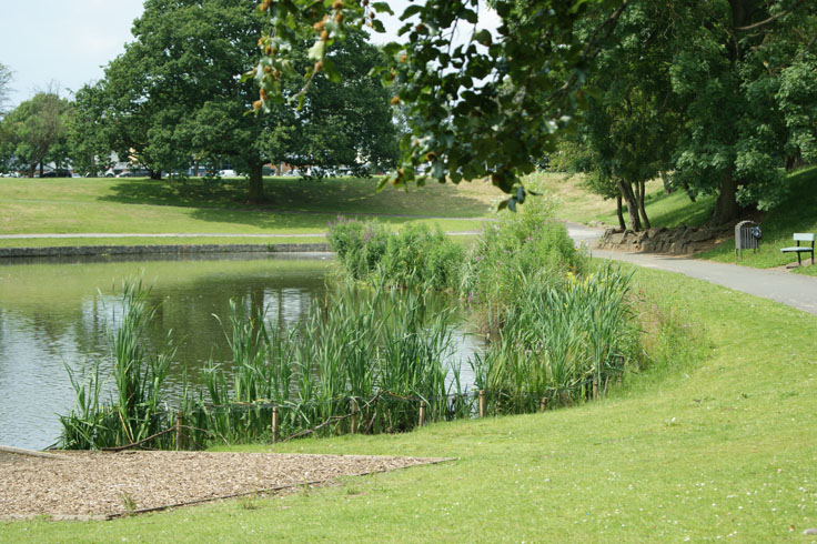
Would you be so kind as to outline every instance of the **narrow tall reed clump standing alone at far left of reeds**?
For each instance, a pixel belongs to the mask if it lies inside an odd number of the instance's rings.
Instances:
[[[109,329],[115,397],[101,402],[107,380],[100,379],[99,361],[82,377],[69,369],[77,401],[70,414],[60,416],[60,447],[89,450],[132,444],[171,425],[172,416],[162,407],[161,396],[175,350],[170,340],[158,352],[144,343],[144,331],[155,314],[155,308],[148,305],[149,294],[141,281],[125,283],[119,322],[114,316]],[[172,440],[167,435],[152,445],[167,445]]]

